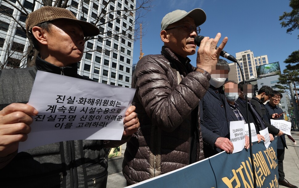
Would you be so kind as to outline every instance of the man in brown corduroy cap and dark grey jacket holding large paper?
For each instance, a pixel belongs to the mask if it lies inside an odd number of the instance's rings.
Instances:
[[[26,104],[37,70],[92,81],[77,74],[77,62],[84,37],[98,35],[99,29],[69,10],[44,6],[28,15],[26,30],[39,50],[35,66],[0,70],[0,186],[106,187],[109,148],[125,143],[139,127],[134,106],[126,111],[121,141],[64,141],[18,153],[38,114]]]

